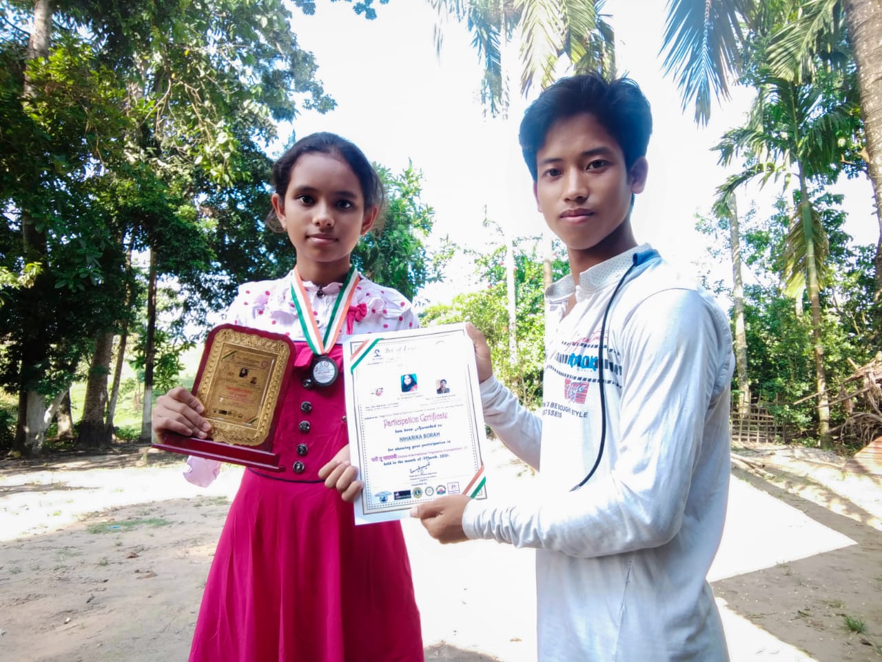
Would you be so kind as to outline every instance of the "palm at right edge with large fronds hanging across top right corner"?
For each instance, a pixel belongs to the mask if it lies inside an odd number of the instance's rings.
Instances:
[[[882,297],[882,4],[878,0],[670,0],[662,51],[664,66],[695,103],[706,124],[712,98],[728,96],[729,80],[744,64],[746,33],[777,23],[770,64],[782,79],[800,80],[813,56],[838,42],[842,18],[854,52],[868,174],[876,199],[879,240],[876,297]],[[777,15],[777,16],[776,16]],[[809,66],[807,66],[809,64]]]

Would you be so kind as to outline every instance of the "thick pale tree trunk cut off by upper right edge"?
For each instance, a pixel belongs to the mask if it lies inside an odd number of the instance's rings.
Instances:
[[[876,197],[879,224],[876,300],[882,303],[882,3],[879,0],[844,0],[843,6],[855,51],[863,132],[867,139],[867,164]]]

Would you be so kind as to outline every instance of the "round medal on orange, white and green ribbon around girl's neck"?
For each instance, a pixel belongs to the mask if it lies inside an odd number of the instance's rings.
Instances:
[[[340,330],[343,328],[343,322],[346,320],[346,313],[349,305],[352,304],[352,297],[355,295],[355,286],[358,284],[359,275],[355,272],[355,267],[349,268],[346,280],[340,288],[340,293],[334,301],[333,310],[331,311],[331,319],[328,320],[325,327],[325,336],[322,337],[318,333],[318,322],[316,316],[312,312],[310,300],[306,296],[306,290],[303,287],[303,281],[297,273],[297,267],[294,268],[294,282],[291,283],[291,298],[294,300],[297,315],[300,319],[300,327],[303,329],[303,337],[310,345],[310,350],[315,355],[312,358],[310,367],[311,381],[318,386],[331,386],[340,374],[337,364],[327,354],[337,342]],[[296,287],[295,287],[296,285]],[[321,287],[316,293],[317,297],[324,297],[325,292]]]

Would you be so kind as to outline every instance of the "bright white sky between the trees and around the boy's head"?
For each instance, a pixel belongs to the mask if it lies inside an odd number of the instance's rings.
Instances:
[[[393,170],[411,159],[425,177],[423,199],[435,207],[437,237],[449,235],[475,248],[486,245],[485,204],[515,236],[539,235],[544,222],[517,140],[527,105],[517,94],[519,62],[510,60],[516,81],[511,119],[488,119],[477,99],[482,70],[465,26],[447,23],[439,58],[433,42],[437,15],[424,0],[375,3],[374,21],[355,16],[348,3],[317,4],[315,16],[295,10],[295,33],[301,46],[315,54],[318,78],[338,107],[324,116],[304,112],[295,120],[296,134],[340,133],[372,161]],[[704,239],[694,230],[695,214],[708,213],[714,190],[726,177],[710,149],[723,132],[741,123],[750,95],[736,90],[730,102],[714,107],[711,123],[699,129],[691,111],[681,112],[672,80],[662,77],[657,54],[664,3],[617,0],[607,7],[615,12],[617,69],[639,83],[654,116],[647,189],[632,215],[635,235],[669,259],[689,264],[704,251]],[[864,179],[841,189],[850,212],[848,231],[861,243],[875,243],[878,224],[870,184]],[[767,199],[778,190],[770,183],[766,192],[739,194],[739,210],[746,210],[753,197]]]

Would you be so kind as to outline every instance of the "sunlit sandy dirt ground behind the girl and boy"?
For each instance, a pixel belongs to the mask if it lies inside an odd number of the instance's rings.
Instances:
[[[241,470],[209,488],[137,448],[0,462],[0,660],[183,660]],[[882,658],[882,478],[806,448],[739,448],[709,578],[733,662]],[[502,448],[490,497],[534,482]],[[426,658],[535,659],[534,555],[404,522]]]

